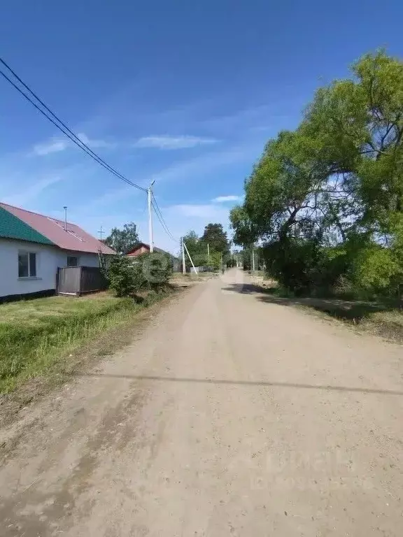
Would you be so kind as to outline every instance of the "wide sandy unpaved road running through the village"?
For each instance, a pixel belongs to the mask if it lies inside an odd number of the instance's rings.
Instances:
[[[29,409],[2,537],[403,535],[402,348],[242,278]]]

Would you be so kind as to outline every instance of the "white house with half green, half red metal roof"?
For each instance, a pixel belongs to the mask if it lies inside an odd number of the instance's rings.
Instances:
[[[99,266],[115,254],[83,229],[0,203],[0,299],[53,294],[59,267]]]

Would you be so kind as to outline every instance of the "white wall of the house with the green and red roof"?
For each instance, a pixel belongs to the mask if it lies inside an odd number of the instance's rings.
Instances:
[[[18,278],[18,252],[36,253],[36,278]],[[67,252],[55,246],[0,238],[0,297],[56,288],[59,266],[67,266],[67,256],[78,257],[78,265],[99,266],[97,254]]]

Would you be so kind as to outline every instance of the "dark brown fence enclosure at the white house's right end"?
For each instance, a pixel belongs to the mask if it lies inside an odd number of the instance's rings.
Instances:
[[[103,291],[106,278],[97,266],[66,266],[57,269],[57,294],[75,294]]]

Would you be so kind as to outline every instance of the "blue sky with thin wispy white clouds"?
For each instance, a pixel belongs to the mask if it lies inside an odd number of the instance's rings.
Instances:
[[[228,227],[264,143],[316,87],[380,46],[402,55],[397,0],[8,2],[3,58],[121,173],[155,196],[174,236]],[[0,80],[0,199],[97,234],[146,198],[86,157]],[[155,219],[155,243],[178,250]]]

